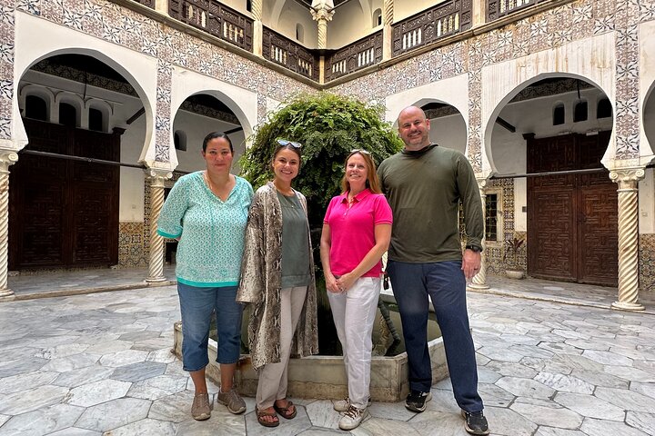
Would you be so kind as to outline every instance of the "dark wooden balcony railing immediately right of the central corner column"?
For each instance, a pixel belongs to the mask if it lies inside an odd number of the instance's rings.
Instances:
[[[382,31],[368,35],[339,49],[326,59],[325,80],[358,71],[382,62]]]

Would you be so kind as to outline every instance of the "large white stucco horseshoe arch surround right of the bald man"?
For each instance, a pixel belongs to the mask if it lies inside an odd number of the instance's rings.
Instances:
[[[491,150],[491,132],[503,107],[519,91],[529,84],[549,77],[571,77],[583,80],[599,88],[608,96],[615,109],[615,37],[613,33],[596,35],[592,38],[573,41],[553,49],[529,54],[506,62],[482,68],[483,86],[481,126],[483,144],[483,173],[496,173]],[[608,166],[616,152],[612,119],[610,144],[602,163]]]

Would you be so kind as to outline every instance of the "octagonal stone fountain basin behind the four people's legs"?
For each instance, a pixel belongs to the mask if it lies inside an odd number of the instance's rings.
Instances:
[[[402,326],[398,312],[395,312],[393,297],[382,296],[388,302],[389,314],[395,325],[398,335],[402,337]],[[244,313],[244,318],[246,313]],[[388,344],[392,340],[388,334],[387,324],[383,321],[380,311],[374,324],[373,344],[378,353],[388,353]],[[174,351],[178,357],[182,355],[182,327],[180,322],[174,325],[175,343]],[[246,332],[244,332],[246,333]],[[320,329],[318,334],[320,335]],[[329,332],[329,334],[334,334]],[[242,336],[245,341],[245,334]],[[380,347],[383,347],[380,350]],[[370,394],[373,401],[401,401],[409,393],[408,358],[404,352],[404,344],[394,347],[402,350],[396,355],[374,355],[371,362]],[[448,377],[446,353],[443,340],[434,320],[434,313],[430,313],[428,320],[428,351],[432,362],[432,382]],[[374,352],[374,354],[375,354]],[[209,340],[209,365],[207,377],[219,384],[220,369],[217,358],[217,342]],[[239,393],[254,397],[257,392],[257,372],[252,368],[249,354],[242,354],[237,363],[235,375]],[[297,398],[338,399],[348,396],[348,385],[343,357],[340,355],[315,355],[302,359],[291,359],[288,369],[288,395]]]

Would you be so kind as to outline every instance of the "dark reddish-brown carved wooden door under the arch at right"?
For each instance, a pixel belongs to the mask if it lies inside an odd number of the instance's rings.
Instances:
[[[528,140],[528,172],[601,168],[610,132]],[[528,179],[528,273],[616,286],[617,187],[607,171]]]

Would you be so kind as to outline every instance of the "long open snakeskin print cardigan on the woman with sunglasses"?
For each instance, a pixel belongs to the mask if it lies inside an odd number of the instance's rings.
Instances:
[[[296,191],[307,213],[307,199]],[[307,235],[309,227],[307,225]],[[317,294],[309,240],[311,283],[297,323],[291,355],[318,352]],[[280,291],[282,282],[282,208],[273,183],[257,189],[250,206],[237,302],[250,303],[248,344],[253,369],[280,362]]]

